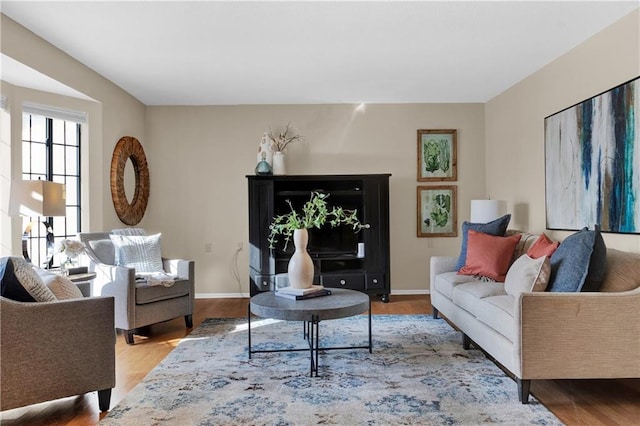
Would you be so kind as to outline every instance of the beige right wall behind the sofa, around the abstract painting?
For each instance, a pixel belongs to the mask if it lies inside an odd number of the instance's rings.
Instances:
[[[545,229],[544,118],[640,75],[639,18],[636,10],[487,102],[487,193],[508,201],[513,227]],[[604,238],[640,252],[638,235]]]

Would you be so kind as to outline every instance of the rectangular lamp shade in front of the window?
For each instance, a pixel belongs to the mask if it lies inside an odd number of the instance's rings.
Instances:
[[[11,181],[9,216],[66,216],[66,190],[46,180]]]

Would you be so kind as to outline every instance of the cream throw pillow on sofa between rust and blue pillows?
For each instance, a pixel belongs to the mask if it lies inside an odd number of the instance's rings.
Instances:
[[[547,256],[533,259],[520,256],[507,272],[504,291],[512,296],[532,291],[545,291],[551,276],[551,262]]]

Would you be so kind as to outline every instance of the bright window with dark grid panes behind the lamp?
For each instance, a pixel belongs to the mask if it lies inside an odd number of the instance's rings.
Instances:
[[[33,108],[31,108],[33,109]],[[25,219],[23,254],[34,266],[51,267],[55,241],[75,238],[81,230],[81,123],[41,115],[25,106],[22,115],[22,179],[64,183],[65,217]]]

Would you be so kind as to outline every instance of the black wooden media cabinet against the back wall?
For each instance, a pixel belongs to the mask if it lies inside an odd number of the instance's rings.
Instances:
[[[289,211],[289,200],[300,208],[312,191],[329,194],[330,205],[357,209],[362,223],[354,234],[341,226],[313,229],[307,250],[315,266],[315,282],[325,287],[348,288],[379,295],[389,301],[389,177],[365,175],[247,176],[249,184],[249,281],[251,296],[272,291],[287,273],[293,243],[269,248],[267,237],[273,218]],[[358,245],[364,254],[358,254]]]

